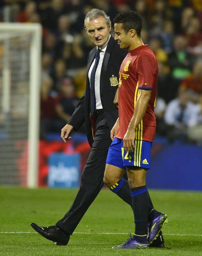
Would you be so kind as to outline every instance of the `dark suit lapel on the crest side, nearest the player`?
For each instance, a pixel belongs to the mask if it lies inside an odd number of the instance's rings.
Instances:
[[[102,96],[102,92],[104,89],[105,78],[107,75],[107,66],[108,66],[113,45],[114,45],[114,37],[111,36],[104,54],[104,59],[102,63],[101,73],[100,73],[100,97]]]

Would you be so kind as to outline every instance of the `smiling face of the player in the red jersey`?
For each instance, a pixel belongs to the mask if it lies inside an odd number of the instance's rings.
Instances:
[[[118,42],[120,48],[128,49],[130,48],[130,36],[129,32],[126,33],[122,28],[122,23],[114,24],[115,40]]]

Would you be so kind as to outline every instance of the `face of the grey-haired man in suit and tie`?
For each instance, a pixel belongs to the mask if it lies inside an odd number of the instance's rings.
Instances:
[[[86,20],[85,26],[87,34],[94,45],[102,47],[108,41],[111,24],[108,27],[102,16],[93,20]]]

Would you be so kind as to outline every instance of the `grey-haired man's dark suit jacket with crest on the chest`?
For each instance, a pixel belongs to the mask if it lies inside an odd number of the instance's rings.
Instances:
[[[86,90],[80,98],[73,115],[68,121],[68,124],[72,125],[75,131],[77,131],[85,122],[87,138],[91,147],[93,143],[93,134],[90,121],[90,82],[88,79],[88,72],[95,58],[95,53],[96,47],[94,47],[88,54]],[[100,97],[104,110],[104,118],[107,120],[110,129],[118,118],[118,109],[114,105],[113,100],[118,88],[119,68],[127,53],[128,51],[120,49],[118,43],[111,36],[104,54],[100,74]]]

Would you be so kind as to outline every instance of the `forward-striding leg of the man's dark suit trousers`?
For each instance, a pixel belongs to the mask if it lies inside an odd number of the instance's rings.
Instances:
[[[104,170],[110,144],[110,128],[104,114],[100,114],[96,118],[95,136],[81,175],[80,189],[68,212],[56,223],[59,228],[62,228],[68,234],[74,232],[81,218],[104,185]]]

